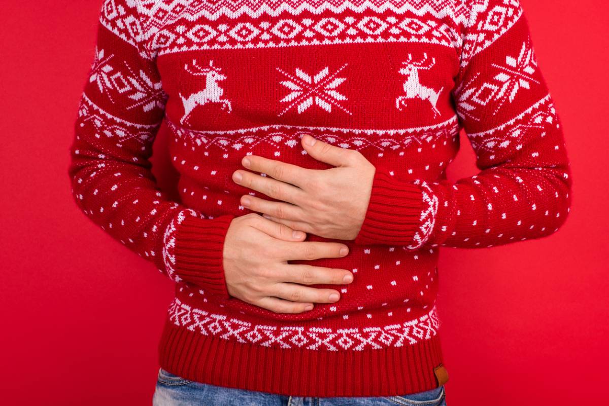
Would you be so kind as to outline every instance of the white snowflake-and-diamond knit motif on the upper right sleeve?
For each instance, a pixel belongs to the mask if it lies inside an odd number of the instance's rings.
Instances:
[[[533,78],[533,74],[537,71],[537,60],[530,40],[523,43],[517,58],[507,55],[504,65],[493,63],[491,66],[499,70],[499,73],[493,77],[496,80],[495,83],[483,83],[482,86],[473,85],[481,75],[481,73],[477,73],[467,83],[462,83],[455,89],[455,94],[459,95],[457,112],[462,119],[479,121],[480,119],[474,115],[474,111],[479,106],[487,105],[489,101],[498,102],[493,111],[493,115],[495,115],[505,101],[509,100],[510,103],[514,101],[520,89],[530,89],[531,83],[540,84],[540,81]]]

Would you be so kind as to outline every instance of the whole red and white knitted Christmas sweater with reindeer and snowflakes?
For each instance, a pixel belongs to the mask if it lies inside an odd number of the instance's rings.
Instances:
[[[175,281],[158,348],[186,379],[294,396],[437,387],[440,248],[542,238],[568,216],[563,130],[518,0],[106,0],[95,52],[72,191]],[[179,201],[150,171],[162,120]],[[450,182],[462,128],[480,171]],[[280,314],[228,294],[225,234],[253,213],[239,200],[273,200],[231,176],[250,154],[330,168],[303,134],[376,171],[348,255],[291,261],[353,283],[312,285],[341,298]]]

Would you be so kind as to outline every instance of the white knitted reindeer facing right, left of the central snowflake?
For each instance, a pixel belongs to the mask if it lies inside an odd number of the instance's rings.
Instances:
[[[217,82],[221,80],[225,80],[227,77],[220,73],[222,68],[216,67],[213,64],[213,61],[209,61],[209,67],[200,67],[197,64],[197,60],[192,60],[192,67],[197,69],[197,72],[191,71],[188,64],[184,65],[184,69],[189,72],[191,75],[195,76],[203,76],[205,75],[205,89],[200,92],[191,94],[188,98],[184,97],[181,93],[180,98],[182,99],[182,103],[184,103],[184,115],[180,120],[181,124],[184,124],[185,120],[188,120],[188,116],[197,106],[203,106],[207,103],[222,103],[222,109],[228,107],[228,112],[231,112],[231,104],[230,101],[222,97],[224,94],[224,89],[218,86]]]

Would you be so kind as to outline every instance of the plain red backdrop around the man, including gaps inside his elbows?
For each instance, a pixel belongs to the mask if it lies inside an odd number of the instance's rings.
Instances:
[[[574,202],[547,238],[443,248],[447,402],[607,404],[609,4],[521,2],[563,121]],[[150,405],[155,387],[172,282],[79,212],[66,172],[100,4],[4,0],[0,8],[5,405]],[[161,134],[154,171],[169,190],[165,146]],[[476,172],[465,141],[449,179]]]

